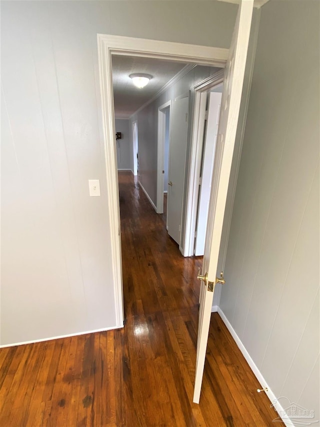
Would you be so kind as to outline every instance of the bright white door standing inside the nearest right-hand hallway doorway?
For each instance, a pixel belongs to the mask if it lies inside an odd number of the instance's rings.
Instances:
[[[221,93],[210,92],[207,108],[206,131],[203,145],[202,167],[194,255],[203,255],[206,223],[211,191],[215,142],[218,133]]]

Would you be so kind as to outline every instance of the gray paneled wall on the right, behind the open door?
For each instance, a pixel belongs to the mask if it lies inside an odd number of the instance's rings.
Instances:
[[[318,2],[262,7],[224,277],[220,308],[273,393],[319,420]]]

